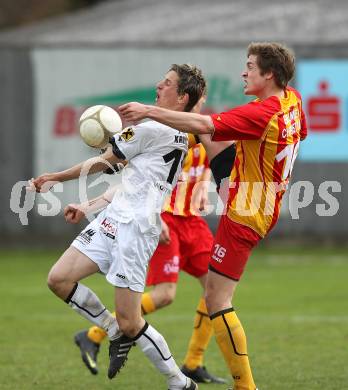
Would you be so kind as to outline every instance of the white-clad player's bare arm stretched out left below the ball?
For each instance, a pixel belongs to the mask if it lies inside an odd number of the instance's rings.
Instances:
[[[98,157],[92,157],[71,168],[65,169],[64,171],[44,173],[35,179],[29,180],[29,186],[27,188],[36,192],[47,192],[56,183],[74,180],[80,176],[101,172],[119,162],[125,164],[123,160],[120,160],[113,154],[112,148],[109,147]]]

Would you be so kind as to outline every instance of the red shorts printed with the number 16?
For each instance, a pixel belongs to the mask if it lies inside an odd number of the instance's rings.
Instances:
[[[211,250],[209,269],[239,280],[251,250],[260,240],[261,237],[254,230],[223,215]]]

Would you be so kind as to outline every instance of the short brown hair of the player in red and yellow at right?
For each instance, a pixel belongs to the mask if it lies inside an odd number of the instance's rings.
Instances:
[[[285,88],[295,73],[295,56],[277,42],[253,42],[248,46],[248,57],[255,55],[261,74],[272,72],[278,87]]]

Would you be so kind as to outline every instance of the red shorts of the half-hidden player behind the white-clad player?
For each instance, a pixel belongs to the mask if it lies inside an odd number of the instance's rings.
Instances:
[[[146,285],[176,283],[179,271],[200,277],[208,272],[213,235],[202,217],[162,213],[169,227],[170,243],[159,244],[147,272]]]

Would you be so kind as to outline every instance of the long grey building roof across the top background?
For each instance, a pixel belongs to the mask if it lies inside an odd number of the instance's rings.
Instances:
[[[119,0],[0,33],[0,47],[347,46],[345,0]]]

